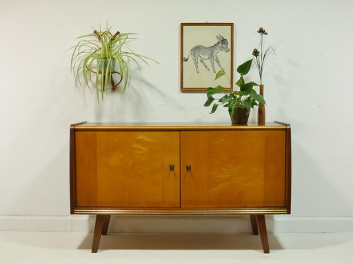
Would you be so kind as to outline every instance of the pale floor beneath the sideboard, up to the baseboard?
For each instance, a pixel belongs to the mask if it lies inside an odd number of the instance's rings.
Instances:
[[[263,254],[252,234],[119,234],[0,232],[1,264],[39,263],[353,263],[353,232],[269,234]]]

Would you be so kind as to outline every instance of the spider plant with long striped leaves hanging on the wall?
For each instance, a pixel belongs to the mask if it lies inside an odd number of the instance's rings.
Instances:
[[[111,33],[111,28],[95,30],[88,35],[79,36],[79,43],[72,47],[74,50],[71,57],[71,71],[74,77],[85,81],[85,85],[93,86],[103,100],[104,92],[115,91],[117,86],[123,81],[123,91],[130,84],[130,62],[134,62],[139,67],[143,62],[148,65],[147,60],[152,60],[141,54],[132,51],[129,46],[130,41],[137,39],[135,33],[121,33],[117,31]],[[157,61],[154,61],[157,63]],[[94,81],[91,82],[92,77]],[[113,77],[117,77],[117,82]]]

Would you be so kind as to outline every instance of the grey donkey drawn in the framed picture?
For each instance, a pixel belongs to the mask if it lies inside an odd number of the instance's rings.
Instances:
[[[222,50],[223,52],[229,52],[229,47],[228,47],[228,41],[227,39],[224,39],[223,36],[218,35],[216,36],[218,42],[214,44],[211,47],[205,47],[203,45],[196,45],[193,47],[190,52],[188,58],[183,57],[183,61],[187,62],[190,58],[190,55],[192,59],[194,60],[194,64],[196,67],[196,72],[199,74],[199,58],[200,62],[205,66],[205,68],[210,71],[210,68],[207,67],[205,64],[204,60],[210,60],[210,63],[212,65],[213,72],[216,73],[216,69],[214,69],[214,61],[219,65],[221,69],[223,67],[221,66],[221,63],[219,63],[219,58],[217,56],[217,53]]]

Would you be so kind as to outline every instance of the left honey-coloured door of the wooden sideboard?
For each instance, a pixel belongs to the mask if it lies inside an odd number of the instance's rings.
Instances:
[[[179,131],[77,131],[75,137],[77,206],[180,206]]]

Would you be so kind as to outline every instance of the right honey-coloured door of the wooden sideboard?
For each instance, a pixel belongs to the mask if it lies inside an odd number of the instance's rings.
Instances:
[[[276,206],[285,206],[285,131],[181,132],[181,207]]]

